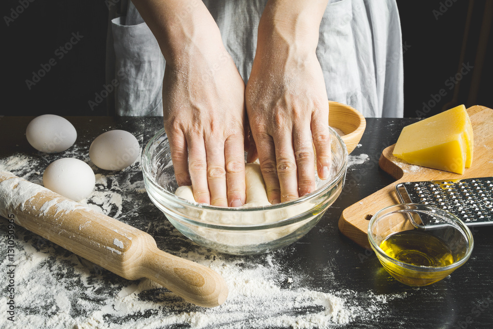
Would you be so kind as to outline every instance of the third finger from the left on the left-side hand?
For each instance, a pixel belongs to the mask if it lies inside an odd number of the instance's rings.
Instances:
[[[226,169],[224,164],[224,140],[208,138],[205,142],[207,153],[207,183],[211,205],[227,207]]]

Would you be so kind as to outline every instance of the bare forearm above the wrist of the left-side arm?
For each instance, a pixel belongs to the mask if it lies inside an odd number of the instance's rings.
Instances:
[[[132,0],[156,37],[168,64],[185,62],[191,47],[207,51],[221,42],[219,29],[200,0]],[[207,41],[206,41],[207,40]]]

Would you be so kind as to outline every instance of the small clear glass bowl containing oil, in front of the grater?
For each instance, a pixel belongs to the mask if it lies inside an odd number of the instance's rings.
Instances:
[[[412,247],[394,251],[395,256],[400,254],[398,258],[401,260],[418,257],[423,262],[429,261],[429,266],[410,264],[387,255],[381,248],[382,241],[405,231],[406,234],[420,235],[421,241],[425,242],[421,245],[428,251],[432,249],[433,242],[437,239],[441,241],[450,251],[450,255],[446,254],[450,264],[435,266],[431,255]],[[373,215],[368,225],[368,240],[387,272],[408,286],[426,286],[447,277],[469,259],[474,245],[471,231],[455,215],[436,207],[413,203],[390,206]]]

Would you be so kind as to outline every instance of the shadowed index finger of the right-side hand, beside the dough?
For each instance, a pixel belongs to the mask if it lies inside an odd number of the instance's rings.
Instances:
[[[274,140],[271,136],[263,134],[256,138],[258,146],[258,159],[260,162],[260,171],[265,182],[267,199],[270,203],[276,204],[281,202],[281,189],[276,168],[276,149]]]

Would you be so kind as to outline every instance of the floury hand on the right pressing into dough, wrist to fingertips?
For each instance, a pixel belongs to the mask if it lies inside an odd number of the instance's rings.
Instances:
[[[290,30],[269,17],[273,12],[259,24],[246,110],[267,197],[279,203],[315,190],[313,146],[321,179],[328,178],[331,156],[327,94],[315,54],[318,29]],[[255,157],[250,150],[247,161]]]

